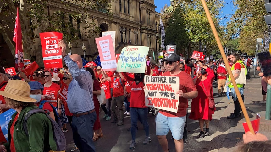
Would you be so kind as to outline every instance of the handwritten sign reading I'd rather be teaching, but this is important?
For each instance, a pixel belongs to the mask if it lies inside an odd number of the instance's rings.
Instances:
[[[145,105],[177,113],[179,82],[178,76],[145,76]]]

